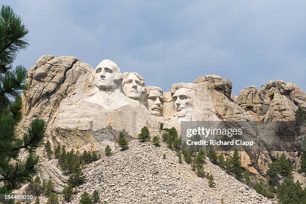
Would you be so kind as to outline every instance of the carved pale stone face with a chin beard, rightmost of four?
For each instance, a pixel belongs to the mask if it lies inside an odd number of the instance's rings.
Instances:
[[[192,108],[191,97],[186,88],[177,89],[172,95],[174,110],[178,117],[184,117]]]

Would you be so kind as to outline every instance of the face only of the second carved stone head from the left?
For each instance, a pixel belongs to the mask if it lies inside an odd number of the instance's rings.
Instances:
[[[123,80],[123,92],[124,94],[134,100],[141,99],[142,82],[141,79],[134,73],[129,73]]]

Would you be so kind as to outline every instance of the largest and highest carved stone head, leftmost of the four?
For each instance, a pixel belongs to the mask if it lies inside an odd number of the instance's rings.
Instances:
[[[112,91],[120,87],[122,74],[118,65],[109,60],[102,60],[95,68],[94,84],[99,90]]]

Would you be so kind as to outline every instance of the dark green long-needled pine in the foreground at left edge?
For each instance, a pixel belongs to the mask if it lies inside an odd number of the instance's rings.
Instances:
[[[15,134],[15,125],[21,119],[20,93],[26,89],[26,69],[22,65],[12,69],[12,63],[28,45],[24,40],[28,30],[7,5],[0,10],[0,33],[0,193],[7,193],[29,182],[38,172],[34,152],[42,144],[45,127],[43,120],[34,119],[21,138]],[[24,160],[15,160],[20,150],[29,154]]]

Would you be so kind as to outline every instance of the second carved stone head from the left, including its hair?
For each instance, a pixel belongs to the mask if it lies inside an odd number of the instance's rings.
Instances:
[[[122,90],[127,97],[142,101],[145,93],[143,77],[136,72],[124,72]]]

